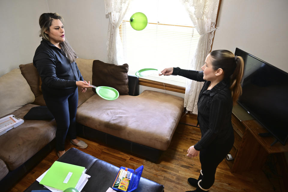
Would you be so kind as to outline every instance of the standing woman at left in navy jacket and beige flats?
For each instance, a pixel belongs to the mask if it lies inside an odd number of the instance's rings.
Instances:
[[[76,139],[76,111],[78,87],[82,92],[91,87],[84,81],[76,64],[77,55],[65,39],[61,16],[43,13],[39,18],[42,41],[35,51],[33,64],[42,80],[45,103],[57,123],[56,150],[58,157],[65,153],[67,133],[70,143],[86,148],[84,141]]]

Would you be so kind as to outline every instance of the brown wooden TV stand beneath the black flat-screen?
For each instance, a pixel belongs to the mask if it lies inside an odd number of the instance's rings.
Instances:
[[[241,173],[247,170],[259,170],[263,167],[266,157],[271,153],[288,152],[288,144],[283,146],[274,142],[274,137],[261,137],[259,133],[268,132],[241,106],[236,104],[232,110],[232,125],[235,142],[230,151],[234,160],[227,161],[231,173]]]

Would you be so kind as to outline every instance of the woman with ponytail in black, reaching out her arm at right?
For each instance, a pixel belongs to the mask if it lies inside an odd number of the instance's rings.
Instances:
[[[192,190],[195,192],[210,189],[215,181],[217,166],[232,149],[232,107],[242,93],[244,61],[228,50],[214,50],[207,55],[201,69],[202,71],[194,71],[170,67],[161,71],[163,75],[180,75],[195,81],[204,81],[197,103],[197,119],[202,137],[187,150],[190,158],[199,154],[201,163],[199,178],[187,180],[196,187],[196,190]]]

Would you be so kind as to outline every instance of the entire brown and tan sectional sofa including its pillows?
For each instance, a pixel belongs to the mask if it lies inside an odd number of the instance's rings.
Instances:
[[[77,59],[77,65],[86,81],[95,86],[114,87],[120,93],[118,99],[107,101],[95,94],[95,89],[79,92],[77,135],[156,161],[171,142],[184,99],[149,90],[139,95],[139,79],[127,75],[127,64],[116,66]],[[32,107],[45,105],[33,64],[19,67],[0,77],[0,117],[13,114],[23,119]],[[4,93],[7,82],[18,85]],[[2,102],[2,97],[12,99]],[[7,190],[54,148],[55,130],[54,119],[25,120],[0,136],[1,189]]]

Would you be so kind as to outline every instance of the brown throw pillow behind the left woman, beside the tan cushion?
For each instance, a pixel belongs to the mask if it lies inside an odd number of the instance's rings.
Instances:
[[[29,64],[21,64],[19,65],[21,70],[21,74],[24,76],[26,81],[28,82],[31,91],[34,93],[35,97],[41,95],[41,91],[39,90],[39,73],[34,67],[33,63]]]

